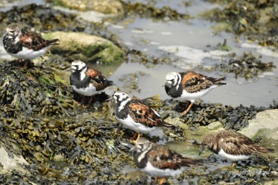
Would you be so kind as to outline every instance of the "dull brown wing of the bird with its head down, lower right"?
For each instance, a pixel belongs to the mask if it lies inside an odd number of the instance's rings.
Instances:
[[[220,132],[216,136],[218,140],[218,146],[220,146],[224,152],[232,155],[251,155],[251,153],[268,153],[269,149],[256,145],[253,140],[233,131]]]

